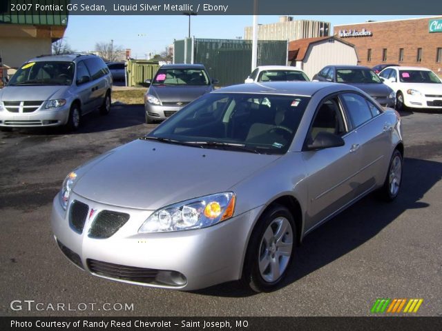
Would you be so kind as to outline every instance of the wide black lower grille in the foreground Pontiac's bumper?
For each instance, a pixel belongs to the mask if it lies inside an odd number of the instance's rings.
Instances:
[[[95,274],[138,283],[153,283],[158,272],[160,272],[160,270],[155,269],[130,267],[93,259],[88,259],[87,263],[90,272]]]

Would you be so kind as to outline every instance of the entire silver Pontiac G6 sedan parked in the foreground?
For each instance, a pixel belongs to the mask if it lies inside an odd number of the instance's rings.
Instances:
[[[398,113],[358,88],[231,86],[70,172],[52,228],[99,277],[269,291],[311,230],[373,190],[396,198],[402,163]]]

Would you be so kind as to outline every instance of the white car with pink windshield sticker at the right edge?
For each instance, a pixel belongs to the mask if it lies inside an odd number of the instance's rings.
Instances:
[[[379,73],[396,92],[396,109],[440,108],[442,109],[442,81],[427,68],[389,67]]]

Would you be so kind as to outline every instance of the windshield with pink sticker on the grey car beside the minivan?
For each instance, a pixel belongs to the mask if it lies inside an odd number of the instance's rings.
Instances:
[[[202,69],[160,69],[153,85],[209,85],[209,77]]]

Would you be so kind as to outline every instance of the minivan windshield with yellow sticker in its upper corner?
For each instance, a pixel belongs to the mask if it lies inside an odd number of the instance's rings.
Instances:
[[[9,86],[71,85],[75,64],[67,61],[25,63],[12,76]]]

